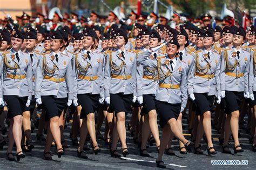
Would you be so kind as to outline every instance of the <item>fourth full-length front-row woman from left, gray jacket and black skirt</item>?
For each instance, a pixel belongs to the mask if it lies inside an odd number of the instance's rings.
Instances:
[[[119,30],[115,38],[118,50],[109,53],[106,58],[104,74],[105,101],[110,104],[116,115],[113,130],[111,156],[120,157],[116,148],[119,135],[122,154],[129,154],[126,145],[125,116],[131,110],[132,101],[136,101],[136,53],[125,50],[128,42],[126,32]]]

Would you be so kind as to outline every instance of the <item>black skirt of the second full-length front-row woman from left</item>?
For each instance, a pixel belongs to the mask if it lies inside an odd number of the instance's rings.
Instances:
[[[60,117],[64,110],[68,98],[56,98],[55,96],[41,96],[42,105],[45,108],[45,120],[48,121],[53,117]]]

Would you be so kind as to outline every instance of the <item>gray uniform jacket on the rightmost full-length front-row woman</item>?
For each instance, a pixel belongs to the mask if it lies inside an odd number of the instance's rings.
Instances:
[[[221,53],[220,89],[221,91],[237,91],[248,93],[248,76],[250,67],[250,53],[240,48],[225,49]]]

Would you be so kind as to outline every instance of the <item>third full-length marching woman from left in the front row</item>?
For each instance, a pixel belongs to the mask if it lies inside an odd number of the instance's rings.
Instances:
[[[91,47],[95,43],[97,34],[92,29],[87,29],[84,32],[83,45],[84,49],[77,53],[74,62],[75,72],[75,96],[74,105],[78,102],[82,106],[80,119],[83,119],[80,128],[80,143],[77,150],[79,158],[87,159],[83,152],[84,142],[87,136],[87,131],[90,134],[92,145],[95,154],[100,151],[96,141],[95,132],[95,111],[98,108],[99,100],[104,101],[104,87],[103,87],[103,63],[104,55],[99,52],[92,52]]]

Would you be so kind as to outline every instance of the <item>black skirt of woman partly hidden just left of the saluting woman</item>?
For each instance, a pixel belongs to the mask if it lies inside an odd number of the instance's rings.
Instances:
[[[153,94],[143,94],[143,108],[140,115],[149,114],[152,110],[156,110],[155,96]]]

